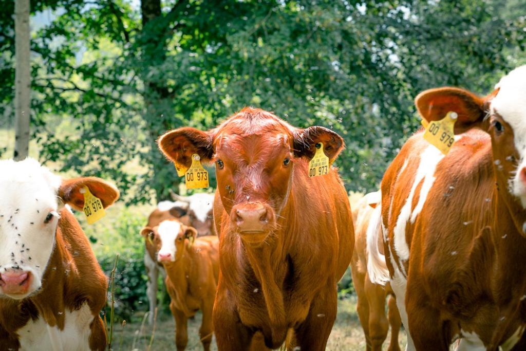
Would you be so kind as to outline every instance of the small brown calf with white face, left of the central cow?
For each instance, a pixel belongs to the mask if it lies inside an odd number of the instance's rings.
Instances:
[[[214,332],[212,309],[219,276],[217,236],[197,237],[197,230],[179,220],[166,219],[158,226],[143,229],[153,237],[157,260],[166,271],[170,310],[175,318],[175,344],[184,350],[188,343],[187,321],[197,310],[203,313],[199,329],[201,343],[210,349]]]

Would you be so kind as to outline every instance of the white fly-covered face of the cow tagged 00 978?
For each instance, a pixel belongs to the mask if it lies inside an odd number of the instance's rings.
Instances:
[[[16,269],[32,275],[27,294],[9,295],[24,298],[41,287],[53,252],[61,180],[31,158],[0,161],[0,170],[0,273]]]

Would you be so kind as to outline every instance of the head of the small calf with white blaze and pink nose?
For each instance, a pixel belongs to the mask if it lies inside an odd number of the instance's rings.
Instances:
[[[155,245],[157,260],[161,263],[175,262],[177,252],[182,252],[185,239],[194,240],[197,230],[187,227],[177,219],[163,220],[158,226],[144,227],[141,235]]]

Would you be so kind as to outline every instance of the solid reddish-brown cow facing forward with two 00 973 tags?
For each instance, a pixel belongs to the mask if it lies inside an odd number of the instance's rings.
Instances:
[[[337,169],[309,177],[321,144],[332,164],[343,148],[337,133],[251,107],[210,131],[181,127],[158,139],[177,164],[189,167],[197,154],[216,165],[219,350],[247,350],[255,333],[269,348],[287,339],[290,348],[325,349],[354,229]]]

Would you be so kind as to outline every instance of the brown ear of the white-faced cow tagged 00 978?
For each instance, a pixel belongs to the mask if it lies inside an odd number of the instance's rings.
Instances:
[[[119,198],[119,190],[115,186],[96,177],[63,180],[58,188],[58,197],[62,199],[64,204],[82,211],[85,186],[88,187],[90,193],[100,199],[104,208],[112,205]]]

